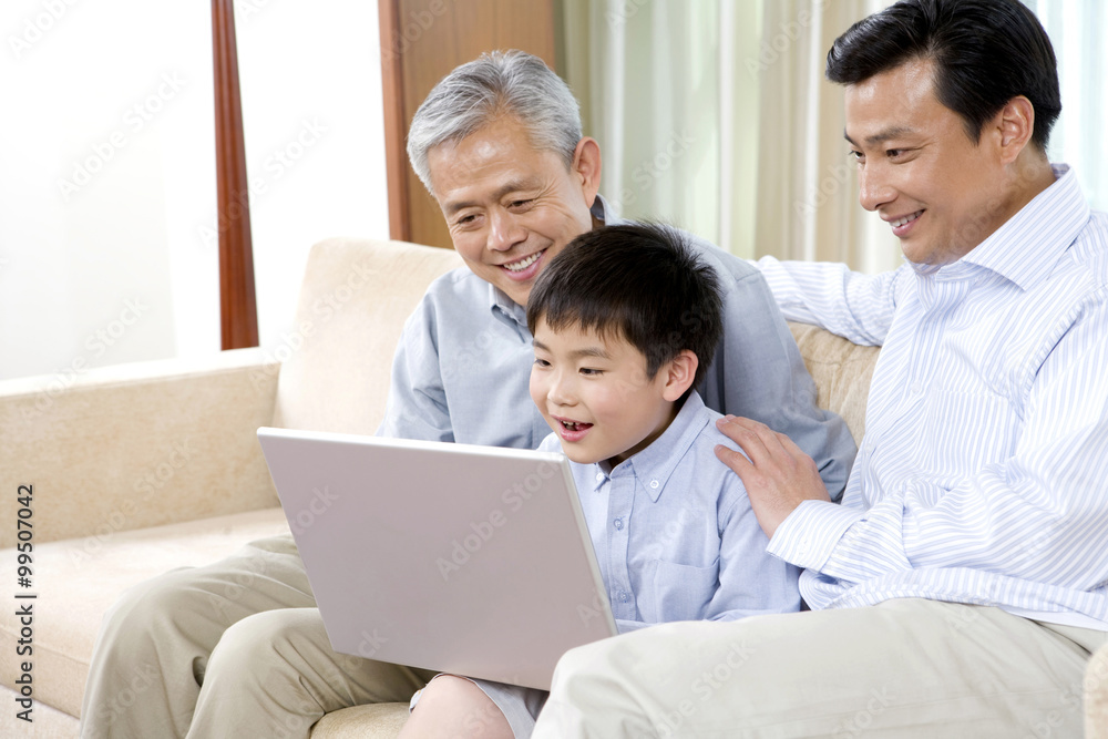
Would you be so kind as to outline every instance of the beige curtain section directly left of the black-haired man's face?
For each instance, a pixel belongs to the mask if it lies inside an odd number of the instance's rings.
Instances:
[[[828,49],[885,0],[773,0],[759,44],[761,129],[757,256],[844,261],[876,273],[901,252],[888,225],[858,204],[843,138],[842,88],[828,82]]]

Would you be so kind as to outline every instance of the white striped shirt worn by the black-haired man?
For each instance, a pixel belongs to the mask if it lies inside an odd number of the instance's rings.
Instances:
[[[813,608],[922,597],[1108,629],[1108,216],[1057,181],[933,270],[759,263],[786,316],[883,345],[842,505],[770,551]]]

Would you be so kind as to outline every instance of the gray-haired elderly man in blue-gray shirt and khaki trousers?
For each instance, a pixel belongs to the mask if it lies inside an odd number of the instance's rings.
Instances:
[[[548,427],[527,390],[527,297],[574,237],[617,222],[597,192],[599,146],[582,135],[576,100],[541,60],[497,52],[439,83],[416,114],[408,152],[468,268],[435,280],[409,318],[378,434],[534,449]],[[815,408],[760,273],[696,243],[725,291],[724,340],[698,388],[706,404],[791,437],[838,497],[855,451],[845,424]],[[228,599],[228,584],[240,582],[249,586]],[[334,653],[315,605],[290,536],[136,586],[98,639],[83,736],[307,737],[328,711],[407,701],[431,677]],[[106,712],[136,665],[157,666],[163,682]],[[516,730],[510,723],[494,711],[451,730]]]

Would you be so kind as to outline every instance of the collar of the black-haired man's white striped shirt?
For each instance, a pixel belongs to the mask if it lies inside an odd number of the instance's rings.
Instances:
[[[1046,279],[1090,217],[1073,170],[1066,164],[1051,166],[1054,184],[951,267],[958,263],[984,267],[1023,290]]]

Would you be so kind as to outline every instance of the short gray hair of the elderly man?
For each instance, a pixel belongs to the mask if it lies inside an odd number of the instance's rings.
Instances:
[[[551,151],[573,166],[581,141],[581,109],[570,86],[537,57],[493,51],[448,74],[416,111],[408,131],[408,158],[431,189],[428,152],[458,142],[497,117],[511,115],[527,131],[533,146]]]

